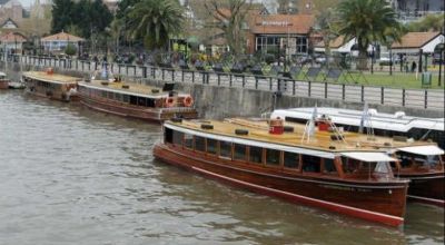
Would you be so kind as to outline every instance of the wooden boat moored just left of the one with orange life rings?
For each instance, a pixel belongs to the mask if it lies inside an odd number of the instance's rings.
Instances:
[[[55,74],[50,68],[46,71],[23,72],[26,91],[30,95],[60,101],[77,100],[77,82],[81,78]]]

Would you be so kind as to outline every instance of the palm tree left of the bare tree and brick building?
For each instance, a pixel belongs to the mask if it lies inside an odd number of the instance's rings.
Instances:
[[[166,48],[169,36],[181,30],[182,13],[178,0],[142,0],[129,9],[127,33],[141,37],[148,49]]]

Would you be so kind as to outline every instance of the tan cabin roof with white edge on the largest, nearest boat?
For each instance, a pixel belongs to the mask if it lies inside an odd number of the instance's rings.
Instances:
[[[236,120],[244,120],[239,124]],[[251,122],[251,124],[247,124]],[[212,129],[204,129],[201,125],[212,125]],[[181,122],[166,121],[165,127],[185,134],[212,138],[217,140],[244,144],[248,146],[265,147],[269,149],[286,150],[297,154],[306,154],[333,159],[336,156],[349,156],[366,161],[395,160],[388,157],[384,150],[370,146],[357,146],[345,144],[342,140],[332,140],[330,133],[317,133],[308,141],[303,139],[300,130],[284,133],[281,135],[269,134],[267,125],[245,119],[219,120],[182,120]],[[236,129],[248,130],[247,135],[237,135]],[[354,154],[352,154],[354,153]],[[346,154],[346,155],[345,155]],[[349,154],[349,155],[347,155]],[[372,154],[373,156],[368,156]]]

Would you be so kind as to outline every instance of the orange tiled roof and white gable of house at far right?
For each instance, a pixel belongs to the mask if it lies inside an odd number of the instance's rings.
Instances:
[[[394,42],[390,48],[394,53],[434,53],[436,47],[445,42],[444,35],[438,31],[408,32],[399,42]]]

